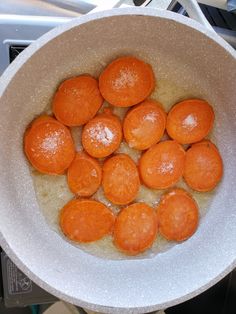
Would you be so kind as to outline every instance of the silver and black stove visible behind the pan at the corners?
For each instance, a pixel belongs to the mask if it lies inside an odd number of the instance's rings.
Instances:
[[[28,45],[53,27],[94,9],[101,0],[2,0],[0,1],[0,75]],[[126,0],[125,5],[141,5],[144,0]],[[187,15],[177,1],[159,2],[162,8]],[[207,2],[207,1],[201,1]],[[209,1],[208,1],[209,2]],[[226,2],[226,1],[223,1]],[[236,15],[221,8],[201,4],[210,24],[226,41],[236,48]],[[32,304],[53,303],[56,298],[24,275],[1,252],[0,314],[27,314]],[[2,270],[2,276],[1,276]],[[82,311],[82,310],[81,310]],[[166,309],[167,314],[236,314],[236,270],[214,287],[180,305]]]

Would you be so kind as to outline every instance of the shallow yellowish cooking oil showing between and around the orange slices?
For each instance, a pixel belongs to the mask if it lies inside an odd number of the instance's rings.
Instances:
[[[157,100],[161,103],[163,108],[166,112],[169,111],[171,106],[173,106],[175,103],[187,99],[187,98],[195,98],[199,97],[194,91],[190,93],[190,91],[185,90],[184,88],[174,84],[171,81],[167,80],[160,80],[158,81],[158,88],[154,90],[151,97],[154,100]],[[103,105],[104,107],[107,107],[108,104],[105,102]],[[102,111],[103,108],[100,110]],[[50,110],[48,108],[48,113],[50,113]],[[121,120],[123,120],[127,108],[114,108],[113,110],[114,114],[118,115]],[[71,128],[72,136],[75,141],[76,150],[80,151],[82,149],[81,145],[81,127],[73,127]],[[165,134],[163,136],[163,139],[167,139],[168,136]],[[213,134],[211,135],[211,138],[213,139]],[[214,139],[213,139],[213,142]],[[117,150],[117,153],[125,153],[128,154],[136,163],[138,163],[138,160],[140,158],[141,152],[137,151],[135,149],[130,148],[126,142],[122,142],[119,149]],[[101,160],[102,162],[102,160]],[[39,206],[42,210],[42,213],[50,226],[55,232],[59,233],[59,235],[65,240],[70,242],[72,245],[77,246],[78,249],[82,249],[89,254],[96,255],[101,258],[108,258],[108,259],[134,259],[134,258],[151,258],[152,256],[156,254],[161,254],[162,252],[171,249],[174,245],[177,245],[174,242],[170,242],[165,240],[160,235],[157,236],[152,248],[147,250],[146,252],[136,256],[136,257],[128,257],[121,253],[119,250],[116,249],[116,247],[112,243],[112,237],[106,236],[102,240],[89,243],[89,244],[77,244],[70,240],[68,240],[60,231],[60,227],[58,224],[58,217],[59,212],[61,208],[71,199],[74,198],[74,195],[70,192],[67,180],[65,175],[60,176],[49,176],[40,174],[39,172],[32,170],[32,178],[34,182],[35,187],[35,193],[37,196],[37,200],[39,203]],[[207,209],[210,206],[210,202],[213,198],[215,190],[208,193],[199,193],[196,191],[191,190],[183,180],[181,180],[178,184],[176,184],[175,187],[181,187],[186,189],[191,193],[191,195],[194,197],[194,199],[197,201],[200,211],[200,223],[201,220],[204,219]],[[152,190],[145,186],[141,186],[139,193],[137,195],[137,198],[134,202],[145,202],[148,205],[152,207],[156,207],[161,195],[164,193],[163,190]],[[99,190],[92,196],[93,199],[98,200],[102,203],[104,203],[106,206],[111,208],[115,214],[117,214],[122,206],[116,206],[114,204],[111,204],[110,201],[108,201],[104,194],[102,188],[99,188]],[[181,245],[178,244],[178,245]]]

